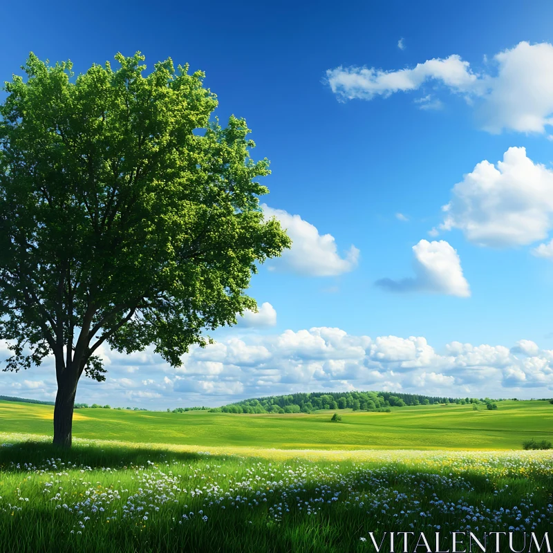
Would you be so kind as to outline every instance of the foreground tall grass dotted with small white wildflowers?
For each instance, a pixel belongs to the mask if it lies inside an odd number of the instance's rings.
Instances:
[[[545,532],[553,521],[547,451],[336,460],[10,441],[0,446],[2,552],[342,553],[372,551],[368,532]]]

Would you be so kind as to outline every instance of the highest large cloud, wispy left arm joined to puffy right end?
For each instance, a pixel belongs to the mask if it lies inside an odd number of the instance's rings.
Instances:
[[[553,122],[552,44],[520,42],[496,54],[490,65],[496,69],[494,73],[478,72],[459,55],[450,55],[397,71],[339,66],[329,69],[326,77],[342,101],[388,97],[435,82],[466,97],[486,131],[543,133]]]

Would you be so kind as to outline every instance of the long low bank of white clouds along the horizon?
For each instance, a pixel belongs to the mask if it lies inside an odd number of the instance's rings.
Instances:
[[[510,348],[452,341],[437,350],[422,336],[371,338],[316,327],[194,347],[183,357],[182,370],[160,362],[151,349],[145,353],[150,364],[133,359],[140,354],[126,356],[126,363],[140,367],[129,379],[120,354],[106,351],[112,361],[106,382],[82,379],[77,401],[167,409],[299,391],[373,389],[450,397],[543,397],[553,391],[553,351],[529,339]],[[28,379],[0,373],[3,393],[54,397],[53,367],[32,372],[34,379],[30,373]]]

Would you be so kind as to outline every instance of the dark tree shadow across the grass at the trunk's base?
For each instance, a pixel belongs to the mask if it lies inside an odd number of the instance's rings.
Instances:
[[[194,465],[206,459],[223,459],[217,456],[194,451],[173,451],[157,447],[124,446],[122,444],[73,444],[71,449],[63,449],[53,444],[25,441],[2,446],[0,444],[0,471],[25,471],[29,468],[45,469],[56,465],[57,470],[77,467],[92,469],[120,469],[133,466],[147,466],[149,463],[165,464],[181,462]],[[71,465],[70,465],[71,463]],[[32,465],[32,467],[30,467]]]

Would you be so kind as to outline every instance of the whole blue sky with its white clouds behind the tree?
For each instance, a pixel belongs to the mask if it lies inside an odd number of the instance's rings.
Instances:
[[[71,59],[77,73],[135,50],[150,66],[170,56],[205,71],[219,118],[246,118],[254,158],[272,162],[268,214],[294,226],[295,253],[252,279],[265,318],[216,332],[247,353],[193,353],[176,372],[151,353],[106,351],[113,376],[80,384],[77,400],[162,407],[351,387],[547,395],[552,17],[547,1],[4,7],[1,79],[29,50]],[[495,168],[474,172],[485,160]],[[12,395],[55,391],[47,368],[2,382]]]

